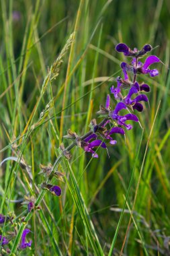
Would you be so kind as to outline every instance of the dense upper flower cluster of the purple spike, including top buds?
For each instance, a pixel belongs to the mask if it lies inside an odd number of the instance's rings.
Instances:
[[[142,102],[148,102],[148,97],[144,93],[150,92],[150,86],[143,82],[138,83],[136,81],[137,74],[149,74],[151,77],[159,74],[157,69],[149,68],[153,63],[160,62],[157,56],[151,55],[147,57],[144,63],[139,61],[152,49],[150,44],[144,45],[140,51],[136,48],[132,50],[124,43],[116,46],[116,51],[124,53],[126,57],[132,57],[132,61],[130,64],[121,63],[120,67],[124,77],[117,77],[117,86],[110,88],[110,93],[114,94],[114,98],[117,101],[115,108],[112,110],[110,107],[110,95],[108,94],[105,106],[101,105],[97,112],[97,115],[105,117],[105,119],[99,125],[93,119],[91,121],[91,131],[83,137],[79,137],[77,133],[69,129],[67,135],[64,136],[65,138],[72,139],[76,146],[83,148],[85,152],[91,152],[93,158],[98,158],[94,148],[107,149],[106,141],[109,141],[112,145],[116,144],[117,141],[112,135],[115,133],[125,135],[124,128],[127,130],[132,129],[132,125],[126,123],[127,121],[139,122],[134,111],[142,112]],[[124,89],[127,91],[125,96],[122,94]],[[121,115],[122,110],[126,110],[127,114]]]

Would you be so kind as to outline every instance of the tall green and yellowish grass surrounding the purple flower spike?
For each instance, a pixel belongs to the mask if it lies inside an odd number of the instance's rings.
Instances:
[[[20,255],[169,255],[169,8],[166,0],[1,0],[0,162],[16,162],[1,166],[0,214],[26,217],[9,243],[13,253],[27,226],[33,243]],[[121,75],[118,42],[152,44],[165,64],[154,79],[139,76],[151,86],[144,130],[135,124],[126,144],[117,136],[110,158],[74,147],[68,162],[58,150],[61,141],[69,146],[62,135],[89,131]],[[65,183],[52,179],[60,197],[39,186],[48,163],[66,173]],[[27,214],[24,195],[40,210]],[[1,224],[1,233],[9,228]]]

